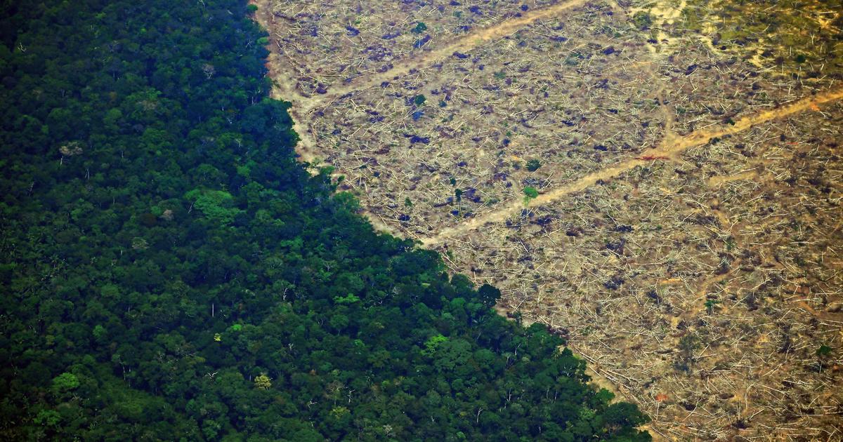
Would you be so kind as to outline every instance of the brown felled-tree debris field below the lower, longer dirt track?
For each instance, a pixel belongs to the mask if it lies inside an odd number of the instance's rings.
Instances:
[[[660,434],[829,438],[839,360],[817,351],[839,348],[843,327],[843,111],[825,110],[639,166],[440,249],[501,286],[505,311],[565,334]]]

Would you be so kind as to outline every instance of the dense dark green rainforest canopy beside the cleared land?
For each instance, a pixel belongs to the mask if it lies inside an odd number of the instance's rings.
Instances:
[[[649,439],[295,161],[244,2],[2,8],[0,439]]]

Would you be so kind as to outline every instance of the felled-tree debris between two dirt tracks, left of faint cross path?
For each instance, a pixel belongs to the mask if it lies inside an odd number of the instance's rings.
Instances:
[[[316,108],[313,136],[347,188],[407,234],[482,216],[662,138],[649,56],[624,23],[603,4],[539,20]]]

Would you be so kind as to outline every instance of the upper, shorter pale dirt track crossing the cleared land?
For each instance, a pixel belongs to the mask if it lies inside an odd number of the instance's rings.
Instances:
[[[321,99],[310,100],[309,106],[303,109],[303,113],[307,113],[318,107],[320,104],[330,104],[346,93],[365,90],[379,86],[380,83],[390,81],[395,77],[401,77],[408,74],[412,69],[421,69],[428,67],[436,61],[444,60],[454,55],[454,52],[468,52],[475,49],[479,45],[484,45],[491,40],[501,39],[507,35],[511,35],[532,24],[536,20],[550,19],[567,11],[568,9],[583,6],[588,0],[568,0],[562,3],[556,3],[547,8],[535,9],[529,13],[524,13],[521,17],[513,19],[506,19],[499,24],[495,24],[488,28],[476,29],[468,35],[459,37],[438,49],[429,52],[424,52],[420,56],[400,60],[398,63],[387,72],[379,72],[371,75],[357,77],[351,83],[340,88],[333,88],[330,93],[325,94]]]

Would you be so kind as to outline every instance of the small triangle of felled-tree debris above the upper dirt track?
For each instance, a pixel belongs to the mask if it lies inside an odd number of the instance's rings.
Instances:
[[[295,74],[298,93],[307,95],[387,72],[396,62],[438,49],[455,37],[554,3],[284,0],[271,3],[271,31]]]

